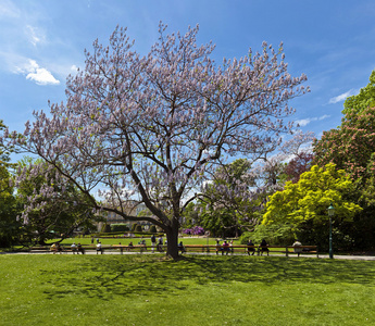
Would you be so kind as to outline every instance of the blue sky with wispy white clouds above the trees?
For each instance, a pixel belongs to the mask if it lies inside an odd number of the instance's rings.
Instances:
[[[240,58],[265,40],[284,42],[291,75],[307,74],[311,92],[291,102],[302,130],[321,135],[340,124],[348,95],[375,67],[373,0],[0,0],[0,118],[23,131],[33,111],[65,100],[65,79],[84,67],[84,49],[127,26],[146,54],[159,22],[185,33],[199,24],[199,43],[214,58]]]

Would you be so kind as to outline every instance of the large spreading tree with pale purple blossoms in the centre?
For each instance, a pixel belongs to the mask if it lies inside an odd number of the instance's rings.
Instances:
[[[226,155],[252,158],[275,149],[288,100],[305,92],[304,75],[291,77],[283,47],[263,43],[261,53],[211,58],[214,46],[196,45],[198,26],[165,35],[146,57],[126,29],[116,28],[104,47],[86,52],[86,67],[67,79],[66,104],[51,116],[36,113],[17,146],[36,153],[89,197],[105,187],[112,211],[150,221],[167,237],[167,254],[178,256],[177,237],[190,190]],[[12,135],[11,135],[12,137]],[[136,197],[153,216],[128,216],[122,202]]]

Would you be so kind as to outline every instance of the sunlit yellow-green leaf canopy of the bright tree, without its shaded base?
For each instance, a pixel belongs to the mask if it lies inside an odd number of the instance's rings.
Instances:
[[[297,184],[288,181],[283,191],[271,196],[262,224],[282,222],[298,226],[310,220],[324,223],[328,220],[330,203],[336,208],[336,220],[351,221],[362,210],[346,199],[352,190],[352,181],[343,170],[336,170],[333,163],[324,168],[314,165],[301,175]]]

